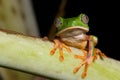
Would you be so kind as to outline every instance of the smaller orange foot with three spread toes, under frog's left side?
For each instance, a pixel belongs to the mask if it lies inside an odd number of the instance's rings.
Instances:
[[[55,51],[59,49],[60,51],[59,59],[62,62],[64,60],[63,48],[65,48],[68,52],[71,52],[71,49],[68,46],[66,46],[64,43],[60,42],[58,39],[55,39],[54,42],[55,42],[55,45],[54,45],[54,48],[50,51],[50,54],[54,55]]]

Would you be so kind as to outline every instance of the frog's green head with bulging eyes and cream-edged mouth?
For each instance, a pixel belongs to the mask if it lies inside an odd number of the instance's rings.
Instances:
[[[80,14],[73,18],[59,17],[55,21],[57,27],[57,36],[65,35],[65,37],[86,33],[89,31],[88,17],[85,14]]]

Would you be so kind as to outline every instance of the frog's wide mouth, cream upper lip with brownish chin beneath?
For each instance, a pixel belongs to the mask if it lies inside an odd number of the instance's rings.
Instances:
[[[56,34],[56,36],[71,37],[71,36],[76,36],[76,35],[86,33],[88,31],[89,31],[89,28],[73,26],[73,27],[68,27],[66,29],[61,30]]]

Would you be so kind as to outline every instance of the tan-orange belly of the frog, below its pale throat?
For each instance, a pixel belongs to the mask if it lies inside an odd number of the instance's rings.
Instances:
[[[62,38],[61,39],[66,45],[85,49],[87,46],[87,40],[76,39],[74,37]]]

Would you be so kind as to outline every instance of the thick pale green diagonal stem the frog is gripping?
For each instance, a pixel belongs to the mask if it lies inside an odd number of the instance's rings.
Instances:
[[[28,73],[60,80],[82,80],[81,73],[74,74],[73,69],[79,65],[73,53],[81,50],[70,47],[73,52],[64,50],[64,61],[59,61],[59,51],[49,54],[53,43],[41,38],[11,34],[0,31],[0,65]],[[120,62],[112,58],[98,59],[92,63],[84,80],[120,80]]]

